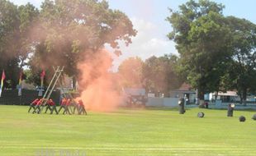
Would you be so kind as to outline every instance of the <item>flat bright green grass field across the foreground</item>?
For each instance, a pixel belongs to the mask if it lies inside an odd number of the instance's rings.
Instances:
[[[0,155],[46,155],[50,150],[87,156],[256,155],[253,111],[226,117],[225,110],[192,108],[180,115],[175,109],[121,108],[69,116],[29,114],[27,109],[0,106]],[[206,116],[198,118],[199,111]],[[240,115],[246,122],[239,122]]]

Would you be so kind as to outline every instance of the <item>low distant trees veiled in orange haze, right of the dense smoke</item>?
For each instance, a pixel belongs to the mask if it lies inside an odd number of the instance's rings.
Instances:
[[[145,88],[147,93],[169,96],[169,91],[178,89],[184,82],[178,75],[178,57],[165,54],[162,57],[127,58],[118,68],[117,74],[122,87]]]

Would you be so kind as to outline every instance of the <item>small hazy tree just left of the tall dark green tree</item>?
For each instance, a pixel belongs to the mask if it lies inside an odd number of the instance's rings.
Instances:
[[[182,79],[179,79],[175,68],[178,57],[164,55],[163,57],[149,57],[143,66],[143,81],[147,91],[169,95],[171,89],[177,89]]]

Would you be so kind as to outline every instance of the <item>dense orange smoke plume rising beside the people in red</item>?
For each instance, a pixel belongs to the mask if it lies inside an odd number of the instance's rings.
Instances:
[[[110,54],[101,50],[94,53],[89,59],[78,63],[81,71],[79,76],[79,89],[82,89],[80,99],[83,99],[85,107],[93,111],[112,111],[121,102],[115,82],[109,69],[112,65]]]

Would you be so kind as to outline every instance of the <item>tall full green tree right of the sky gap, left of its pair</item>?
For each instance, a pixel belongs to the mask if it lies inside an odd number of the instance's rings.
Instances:
[[[225,63],[230,61],[230,28],[222,15],[224,6],[216,2],[189,1],[172,11],[169,39],[176,42],[180,54],[178,71],[183,73],[198,99],[220,90]]]

